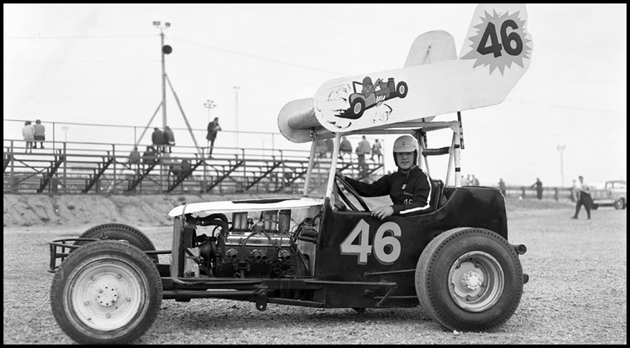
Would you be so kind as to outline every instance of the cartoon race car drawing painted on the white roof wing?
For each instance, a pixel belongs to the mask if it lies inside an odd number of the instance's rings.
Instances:
[[[394,77],[389,77],[386,82],[379,78],[372,83],[372,78],[366,76],[363,77],[362,82],[352,82],[352,88],[354,93],[350,94],[348,98],[350,109],[339,115],[341,118],[352,120],[360,118],[364,111],[386,100],[405,98],[408,91],[406,82],[401,81],[395,84]]]

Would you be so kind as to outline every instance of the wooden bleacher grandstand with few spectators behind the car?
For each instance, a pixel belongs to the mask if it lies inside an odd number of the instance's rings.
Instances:
[[[177,146],[146,163],[129,165],[134,144],[46,141],[44,149],[26,152],[24,140],[4,139],[4,192],[14,194],[165,194],[240,192],[289,194],[303,190],[309,152],[298,149],[253,149]],[[146,145],[139,145],[142,153]],[[330,154],[327,154],[330,156]],[[183,160],[190,170],[172,170]],[[322,176],[330,159],[321,158]],[[356,154],[340,160],[344,174],[366,179],[384,172],[383,163],[368,161],[359,175]]]

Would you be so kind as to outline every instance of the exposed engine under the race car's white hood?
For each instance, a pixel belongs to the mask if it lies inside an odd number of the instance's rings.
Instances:
[[[204,218],[188,216],[180,245],[183,277],[282,278],[309,273],[309,255],[302,244],[316,242],[314,219],[305,218],[291,230],[291,210],[264,211],[260,219],[237,212]]]

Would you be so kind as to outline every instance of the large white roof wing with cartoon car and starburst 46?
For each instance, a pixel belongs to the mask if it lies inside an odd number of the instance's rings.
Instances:
[[[312,140],[311,131],[386,129],[499,104],[530,66],[527,24],[525,4],[480,4],[459,57],[449,33],[424,33],[404,68],[330,80],[314,98],[287,103],[278,116],[280,132],[303,143]],[[355,92],[354,82],[363,91]]]

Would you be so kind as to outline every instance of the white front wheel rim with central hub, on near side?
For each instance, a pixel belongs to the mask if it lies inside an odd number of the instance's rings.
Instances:
[[[146,310],[142,307],[147,302],[147,278],[120,259],[90,262],[66,284],[66,310],[75,327],[113,331],[141,318],[138,315]]]

